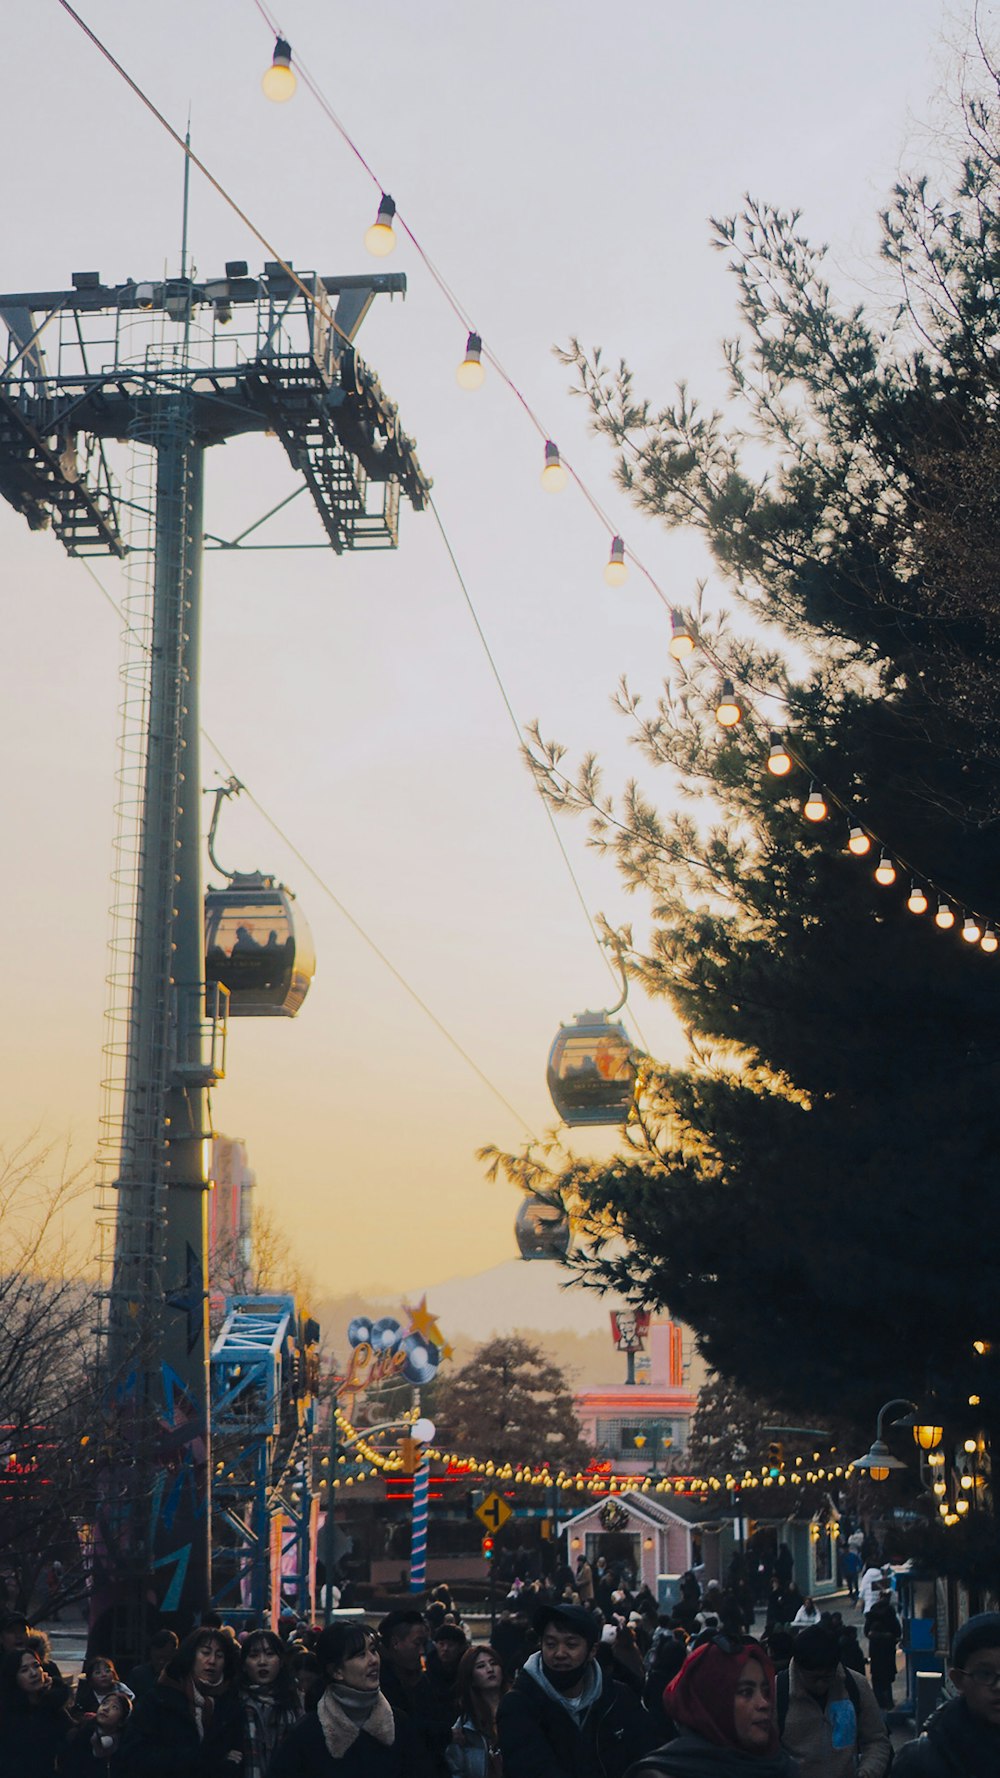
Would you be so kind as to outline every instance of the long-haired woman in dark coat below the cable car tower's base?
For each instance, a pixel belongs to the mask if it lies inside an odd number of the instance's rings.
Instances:
[[[226,1630],[185,1636],[121,1739],[123,1778],[238,1778],[238,1648]]]

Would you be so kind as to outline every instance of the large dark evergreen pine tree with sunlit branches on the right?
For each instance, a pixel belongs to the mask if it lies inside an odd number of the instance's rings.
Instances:
[[[733,599],[810,665],[792,679],[781,644],[703,601],[692,670],[657,708],[619,686],[642,754],[710,800],[708,823],[635,782],[609,797],[593,757],[568,777],[534,733],[552,804],[585,813],[651,903],[630,969],[692,1054],[644,1065],[614,1161],[532,1159],[527,1184],[573,1205],[591,1282],[669,1305],[715,1371],[810,1419],[964,1399],[972,1341],[998,1323],[1000,957],[934,930],[934,898],[909,914],[904,866],[947,889],[959,926],[963,907],[1000,916],[995,114],[996,94],[970,103],[954,194],[897,188],[886,322],[838,308],[794,213],[747,201],[715,224],[746,327],[726,345],[738,423],[683,388],[653,409],[626,364],[564,354],[635,505],[698,526]],[[712,715],[721,672],[749,688],[735,731]],[[891,887],[877,855],[847,853],[847,813],[802,823],[802,772],[763,770],[770,695],[884,837]],[[488,1154],[525,1184],[523,1161]]]

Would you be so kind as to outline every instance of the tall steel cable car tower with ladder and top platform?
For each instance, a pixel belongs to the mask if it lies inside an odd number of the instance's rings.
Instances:
[[[352,341],[374,297],[402,290],[399,274],[320,277],[281,261],[260,277],[230,261],[201,281],[185,254],[181,276],[158,283],[78,272],[69,290],[0,295],[0,496],[73,557],[125,557],[130,503],[109,444],[153,464],[91,1614],[101,1652],[121,1659],[144,1646],[153,1611],[183,1630],[210,1597],[206,1140],[228,990],[205,971],[205,452],[276,434],[336,553],[395,548],[400,491],[420,509],[429,482]]]

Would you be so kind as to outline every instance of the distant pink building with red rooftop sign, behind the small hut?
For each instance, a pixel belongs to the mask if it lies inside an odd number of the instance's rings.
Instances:
[[[619,1346],[623,1376],[632,1371],[635,1382],[582,1389],[573,1398],[584,1437],[616,1474],[673,1469],[687,1451],[698,1401],[692,1344],[678,1321],[653,1317],[633,1335],[632,1351]]]

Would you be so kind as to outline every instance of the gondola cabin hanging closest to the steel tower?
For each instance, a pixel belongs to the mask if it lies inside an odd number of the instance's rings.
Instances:
[[[235,1019],[294,1019],[317,958],[294,894],[274,877],[237,871],[205,896],[205,980],[230,990]]]

